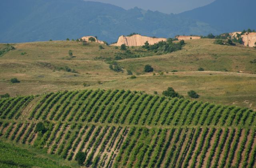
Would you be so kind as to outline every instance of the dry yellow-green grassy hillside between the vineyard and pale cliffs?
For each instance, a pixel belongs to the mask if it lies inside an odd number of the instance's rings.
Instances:
[[[16,50],[0,57],[0,94],[11,95],[38,94],[49,91],[105,88],[142,90],[148,93],[171,86],[182,95],[194,89],[201,95],[200,100],[241,105],[256,108],[256,65],[250,63],[256,59],[256,50],[244,46],[222,46],[212,44],[213,40],[188,40],[181,51],[166,55],[154,55],[152,52],[138,53],[143,58],[118,61],[125,69],[140,76],[128,79],[126,72],[110,71],[109,65],[96,57],[115,57],[120,52],[114,47],[98,44],[83,46],[78,42],[36,42],[15,44]],[[0,44],[0,47],[3,47]],[[74,58],[69,60],[68,51]],[[132,51],[139,47],[130,48]],[[26,55],[21,55],[21,52]],[[150,57],[144,57],[149,55]],[[43,65],[42,63],[50,63]],[[178,70],[175,74],[164,76],[143,75],[144,65],[151,64],[155,71]],[[58,71],[56,67],[68,66],[79,73]],[[229,71],[234,73],[194,72],[198,67],[207,71]],[[236,73],[243,71],[243,73]],[[213,75],[210,75],[213,74]],[[17,77],[21,83],[10,84],[10,78]],[[90,84],[84,87],[83,83]],[[101,83],[101,84],[99,84]]]

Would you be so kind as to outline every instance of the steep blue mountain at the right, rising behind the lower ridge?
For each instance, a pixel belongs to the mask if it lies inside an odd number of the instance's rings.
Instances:
[[[218,32],[236,32],[256,29],[255,6],[255,0],[216,0],[178,16],[207,23]]]

